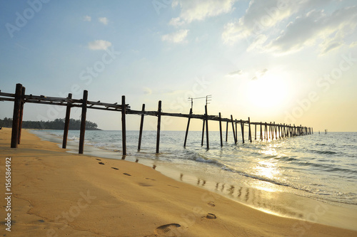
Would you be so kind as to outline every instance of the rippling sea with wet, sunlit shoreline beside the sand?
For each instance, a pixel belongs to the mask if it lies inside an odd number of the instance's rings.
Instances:
[[[61,147],[62,130],[31,130]],[[243,143],[238,132],[161,131],[156,154],[156,131],[126,132],[127,155],[122,156],[121,131],[89,130],[84,154],[126,159],[153,167],[162,174],[212,191],[270,214],[357,230],[357,132],[315,132],[282,139]],[[245,135],[245,138],[248,134]],[[255,139],[256,138],[256,139]],[[79,131],[69,131],[67,148],[78,153]],[[120,167],[119,167],[120,168]],[[299,222],[297,222],[297,225]],[[301,226],[303,224],[301,223]],[[308,228],[305,227],[304,228]]]

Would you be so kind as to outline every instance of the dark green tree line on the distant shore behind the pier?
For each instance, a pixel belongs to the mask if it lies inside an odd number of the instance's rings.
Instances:
[[[12,118],[0,120],[0,127],[12,127]],[[64,119],[54,121],[22,121],[22,128],[64,130]],[[69,130],[81,130],[81,120],[69,120]],[[95,122],[86,121],[86,130],[99,130]]]

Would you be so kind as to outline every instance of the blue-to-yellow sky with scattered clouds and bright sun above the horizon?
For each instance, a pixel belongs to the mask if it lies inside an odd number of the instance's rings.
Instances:
[[[131,109],[357,132],[354,0],[0,1],[0,90],[121,103]],[[12,117],[0,102],[0,118]],[[24,120],[65,117],[65,107],[25,104]],[[80,119],[72,108],[71,118]],[[121,113],[88,110],[104,130]],[[139,130],[140,116],[127,115]],[[185,130],[164,117],[163,130]],[[191,130],[201,130],[193,120]],[[156,130],[156,117],[145,117]],[[218,123],[211,122],[211,130]]]

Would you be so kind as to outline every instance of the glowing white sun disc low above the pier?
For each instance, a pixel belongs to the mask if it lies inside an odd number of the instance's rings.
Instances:
[[[247,85],[246,98],[254,107],[278,109],[288,99],[288,83],[279,75],[266,75],[250,80]]]

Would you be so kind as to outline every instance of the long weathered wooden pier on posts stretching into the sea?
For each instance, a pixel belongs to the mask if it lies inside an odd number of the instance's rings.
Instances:
[[[92,110],[109,110],[121,112],[121,134],[122,134],[122,154],[126,155],[126,115],[141,115],[140,130],[139,130],[139,144],[138,151],[141,149],[141,138],[144,127],[144,116],[155,116],[157,117],[157,133],[156,133],[156,153],[159,153],[160,149],[160,130],[161,130],[161,116],[171,116],[171,117],[186,117],[187,127],[185,138],[183,142],[183,147],[186,147],[188,130],[190,126],[191,119],[198,119],[203,121],[202,127],[202,139],[201,145],[203,146],[203,139],[206,130],[206,148],[209,149],[209,139],[208,139],[208,121],[217,121],[219,122],[219,132],[220,132],[220,141],[221,147],[223,147],[223,136],[222,136],[222,122],[226,122],[226,142],[228,142],[228,125],[231,123],[233,140],[236,144],[238,142],[238,130],[237,125],[241,125],[241,137],[242,142],[245,142],[244,139],[244,127],[248,127],[248,141],[252,142],[251,135],[251,126],[254,126],[254,140],[257,139],[256,127],[260,127],[260,137],[261,141],[263,140],[273,140],[282,139],[285,137],[295,137],[302,135],[313,134],[312,127],[303,127],[296,125],[286,125],[286,124],[276,124],[275,122],[251,122],[250,117],[248,120],[236,120],[233,119],[233,115],[230,118],[221,117],[221,112],[218,115],[208,115],[207,105],[205,106],[204,115],[195,115],[191,110],[188,114],[183,113],[172,113],[172,112],[163,112],[161,111],[161,101],[159,101],[157,111],[146,111],[145,104],[143,104],[141,110],[131,110],[129,104],[125,102],[125,96],[121,97],[121,104],[116,103],[106,103],[101,101],[90,101],[88,100],[88,91],[84,90],[82,99],[73,99],[71,93],[67,98],[56,98],[56,97],[47,97],[44,95],[26,95],[25,88],[21,84],[16,84],[15,93],[2,93],[0,90],[0,101],[12,101],[14,102],[14,115],[13,115],[13,124],[12,124],[12,133],[11,133],[11,148],[16,148],[21,141],[21,127],[22,127],[22,115],[24,113],[24,104],[25,103],[37,103],[45,105],[58,105],[66,106],[66,117],[64,125],[64,137],[62,147],[66,148],[68,130],[69,130],[69,119],[71,114],[71,107],[81,107],[81,131],[79,139],[79,154],[84,152],[84,135],[86,132],[86,111],[87,109]]]

